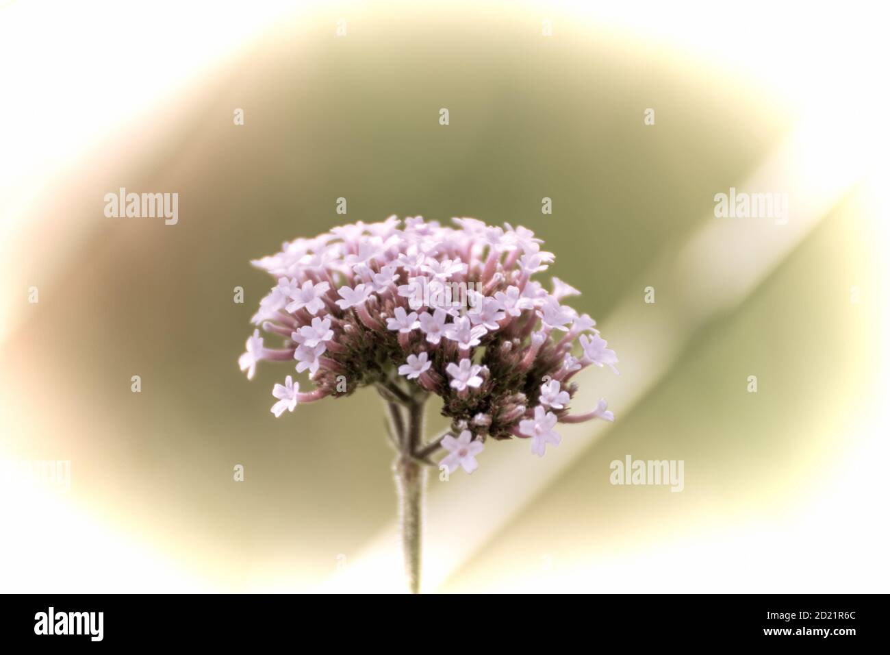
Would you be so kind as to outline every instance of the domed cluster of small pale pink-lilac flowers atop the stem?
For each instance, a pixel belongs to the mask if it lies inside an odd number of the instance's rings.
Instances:
[[[252,321],[284,345],[266,348],[256,329],[241,370],[252,378],[261,360],[295,362],[315,385],[276,384],[276,416],[368,384],[437,394],[459,435],[443,439],[442,463],[468,472],[486,438],[530,438],[543,455],[560,442],[557,423],[613,420],[604,400],[569,413],[571,378],[590,364],[618,373],[618,358],[590,316],[562,304],[578,290],[532,279],[553,254],[523,227],[453,220],[342,225],[253,262],[277,283]]]

